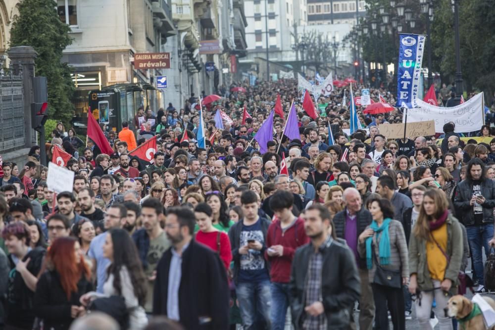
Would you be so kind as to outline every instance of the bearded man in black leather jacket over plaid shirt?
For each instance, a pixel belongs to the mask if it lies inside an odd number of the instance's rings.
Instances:
[[[311,242],[297,249],[292,263],[292,322],[296,330],[348,329],[360,295],[355,257],[337,240],[330,212],[323,205],[305,211],[304,229]]]

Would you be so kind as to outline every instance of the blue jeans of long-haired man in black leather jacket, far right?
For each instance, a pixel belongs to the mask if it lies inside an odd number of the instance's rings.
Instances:
[[[483,272],[483,254],[482,248],[485,249],[485,255],[488,257],[490,253],[490,246],[488,241],[494,236],[494,225],[480,225],[480,226],[466,226],[467,240],[469,242],[469,249],[471,250],[471,256],[473,258],[473,268],[475,271],[476,279],[480,285],[485,284],[484,272]],[[474,279],[473,279],[474,280]]]

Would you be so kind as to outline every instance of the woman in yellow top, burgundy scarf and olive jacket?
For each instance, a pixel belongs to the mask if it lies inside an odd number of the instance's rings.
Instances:
[[[427,189],[409,239],[409,292],[417,295],[416,317],[421,329],[432,329],[430,311],[434,298],[440,329],[452,329],[444,308],[449,296],[457,293],[462,255],[461,224],[448,212],[445,193]]]

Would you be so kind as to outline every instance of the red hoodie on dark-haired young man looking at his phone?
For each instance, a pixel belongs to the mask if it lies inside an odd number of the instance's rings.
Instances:
[[[268,227],[266,234],[266,246],[282,245],[282,256],[270,257],[265,251],[265,257],[270,262],[270,280],[276,283],[289,283],[291,277],[292,259],[296,249],[309,242],[309,237],[304,231],[304,220],[296,218],[289,227],[282,230],[280,220],[275,220]]]

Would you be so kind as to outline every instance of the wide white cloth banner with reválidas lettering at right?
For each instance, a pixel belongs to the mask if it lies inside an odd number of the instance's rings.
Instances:
[[[437,133],[443,133],[448,122],[454,123],[456,133],[478,131],[485,124],[483,93],[450,108],[431,105],[419,98],[416,102],[417,108],[407,110],[407,122],[434,120]],[[405,122],[405,116],[402,122]]]

